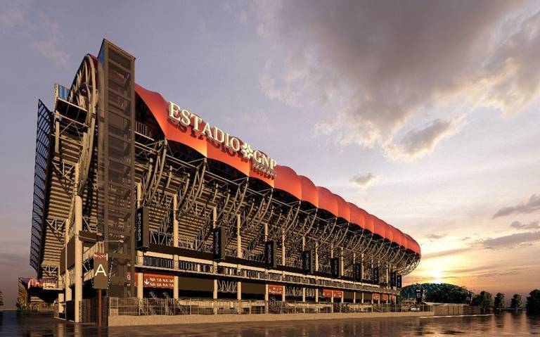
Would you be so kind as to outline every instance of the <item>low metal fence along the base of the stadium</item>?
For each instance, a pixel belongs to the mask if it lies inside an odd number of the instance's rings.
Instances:
[[[368,303],[309,303],[279,300],[197,300],[173,298],[110,298],[111,316],[179,314],[328,314],[347,312],[432,312],[431,305],[396,306]]]

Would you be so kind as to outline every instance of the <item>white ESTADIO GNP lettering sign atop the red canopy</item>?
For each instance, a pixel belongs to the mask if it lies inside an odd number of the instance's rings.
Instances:
[[[217,144],[223,144],[227,149],[231,149],[242,155],[243,158],[250,160],[254,170],[266,174],[271,178],[276,177],[274,167],[276,167],[277,163],[274,158],[270,158],[262,151],[252,150],[250,144],[240,141],[240,139],[231,136],[219,129],[219,127],[212,127],[210,123],[205,122],[198,115],[190,113],[188,110],[182,109],[172,102],[169,102],[169,120],[184,127],[191,127],[194,131],[200,132],[206,139],[214,141]]]

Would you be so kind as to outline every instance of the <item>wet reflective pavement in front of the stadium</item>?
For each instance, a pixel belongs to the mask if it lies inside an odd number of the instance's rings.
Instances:
[[[483,317],[335,319],[304,322],[191,324],[98,329],[46,316],[0,312],[0,336],[534,336],[540,317],[504,312]]]

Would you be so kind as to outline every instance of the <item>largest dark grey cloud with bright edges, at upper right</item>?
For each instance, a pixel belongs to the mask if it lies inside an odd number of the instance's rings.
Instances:
[[[260,87],[333,111],[315,129],[338,144],[419,158],[459,131],[456,115],[486,106],[511,115],[539,96],[540,72],[530,70],[540,64],[540,13],[522,4],[262,1],[258,32],[286,57],[271,56]]]

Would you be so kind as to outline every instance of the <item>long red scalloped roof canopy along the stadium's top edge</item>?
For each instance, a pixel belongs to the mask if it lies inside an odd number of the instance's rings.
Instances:
[[[275,179],[253,170],[250,161],[241,157],[235,151],[231,151],[231,149],[212,139],[201,136],[200,131],[195,131],[191,127],[176,125],[176,123],[169,120],[168,103],[158,92],[147,90],[138,84],[135,84],[135,92],[146,103],[148,110],[155,117],[165,138],[169,141],[176,141],[189,146],[207,158],[219,160],[248,177],[259,179],[271,187],[290,193],[301,201],[311,203],[316,208],[327,210],[335,217],[342,217],[347,222],[357,224],[359,227],[371,231],[371,233],[378,234],[420,254],[420,245],[411,236],[402,233],[399,229],[390,226],[378,217],[368,214],[368,212],[353,203],[347,203],[345,199],[333,194],[324,187],[315,186],[309,178],[297,175],[290,167],[282,165],[274,167]],[[199,129],[202,130],[204,125],[205,122],[201,122]],[[236,138],[238,139],[238,137]],[[243,144],[240,139],[238,140],[240,144]]]

